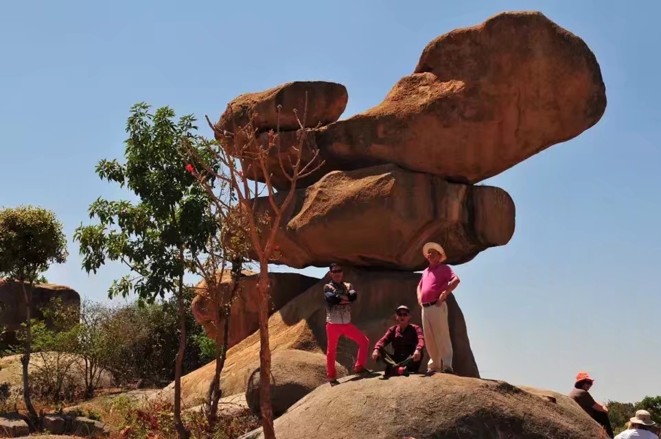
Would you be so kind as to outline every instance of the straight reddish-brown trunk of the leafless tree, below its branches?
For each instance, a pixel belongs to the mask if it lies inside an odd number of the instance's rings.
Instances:
[[[271,351],[268,345],[268,262],[259,264],[259,408],[262,412],[264,439],[275,439],[271,404]]]

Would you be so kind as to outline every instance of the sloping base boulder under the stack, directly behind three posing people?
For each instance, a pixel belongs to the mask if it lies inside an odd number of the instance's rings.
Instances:
[[[275,273],[274,273],[275,274]],[[277,275],[277,274],[276,274]],[[370,349],[395,324],[395,309],[407,305],[413,313],[412,323],[421,324],[421,310],[415,297],[415,288],[420,281],[419,273],[377,272],[345,268],[345,280],[356,287],[358,300],[353,304],[351,321],[369,337]],[[307,291],[290,300],[268,320],[269,344],[272,355],[288,349],[298,349],[312,353],[325,354],[325,305],[323,300],[322,279]],[[461,287],[456,290],[461,296]],[[471,351],[463,313],[454,294],[448,298],[450,337],[452,337],[454,371],[465,377],[479,377],[480,373]],[[340,365],[353,369],[358,346],[340,338],[337,361]],[[425,353],[424,361],[427,361]],[[253,333],[245,340],[227,351],[220,376],[223,395],[243,393],[259,361],[259,333]],[[371,359],[367,366],[382,370],[383,366]],[[209,381],[216,368],[211,362],[181,379],[183,403],[188,407],[203,401],[209,388]],[[173,385],[170,384],[161,394],[154,397],[172,397]]]

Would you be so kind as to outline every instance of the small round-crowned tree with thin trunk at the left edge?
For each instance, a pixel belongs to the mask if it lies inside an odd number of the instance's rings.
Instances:
[[[0,209],[0,276],[21,283],[25,301],[23,399],[32,418],[36,418],[36,411],[27,370],[32,349],[32,289],[49,265],[64,263],[68,255],[62,223],[53,212],[35,206]]]

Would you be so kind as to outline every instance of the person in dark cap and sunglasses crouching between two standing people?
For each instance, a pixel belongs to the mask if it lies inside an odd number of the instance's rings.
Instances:
[[[386,364],[386,377],[418,372],[422,363],[422,349],[425,347],[422,328],[409,323],[411,315],[408,307],[398,307],[395,318],[397,324],[386,331],[372,352],[374,361],[381,359]],[[392,354],[385,349],[389,344],[393,345]]]

